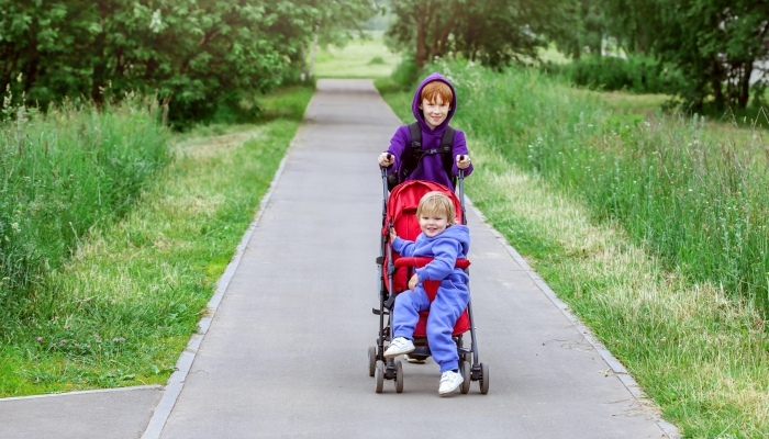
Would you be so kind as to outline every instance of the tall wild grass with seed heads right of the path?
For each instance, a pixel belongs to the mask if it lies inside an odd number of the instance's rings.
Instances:
[[[465,109],[456,124],[495,153],[579,194],[692,282],[769,313],[769,173],[764,131],[712,137],[704,119],[612,112],[534,70],[443,64]],[[767,126],[769,120],[764,120]]]

